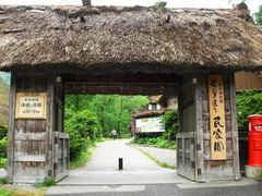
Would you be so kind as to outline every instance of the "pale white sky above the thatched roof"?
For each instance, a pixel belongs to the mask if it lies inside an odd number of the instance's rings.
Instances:
[[[92,0],[92,5],[153,5],[157,0]],[[231,8],[241,0],[162,0],[168,8]],[[246,0],[252,13],[258,12],[262,0]],[[81,5],[82,0],[0,0],[0,4]]]

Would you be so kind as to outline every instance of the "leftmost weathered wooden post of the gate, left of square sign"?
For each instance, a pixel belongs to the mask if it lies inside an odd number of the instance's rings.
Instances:
[[[15,95],[16,95],[16,76],[11,74],[10,96],[9,96],[9,145],[8,145],[8,177],[13,182],[13,161],[14,161],[14,112],[15,112]]]

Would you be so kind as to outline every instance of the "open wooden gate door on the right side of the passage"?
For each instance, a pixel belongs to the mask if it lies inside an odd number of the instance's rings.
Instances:
[[[177,134],[177,172],[195,181],[195,81],[188,79],[179,88],[179,133]]]

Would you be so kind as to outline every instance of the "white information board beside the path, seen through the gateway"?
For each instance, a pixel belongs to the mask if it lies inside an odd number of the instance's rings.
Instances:
[[[138,133],[152,133],[165,132],[160,123],[160,117],[143,118],[135,120],[135,132]]]

